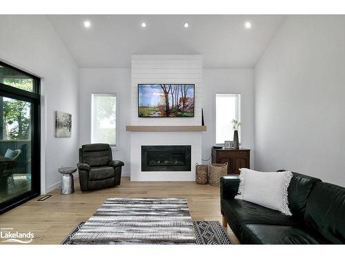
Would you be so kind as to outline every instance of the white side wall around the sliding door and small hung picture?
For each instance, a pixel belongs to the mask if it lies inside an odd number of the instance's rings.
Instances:
[[[78,67],[43,15],[0,16],[0,59],[42,78],[41,193],[60,184],[61,166],[75,166]],[[55,137],[55,111],[72,113],[72,137]]]

